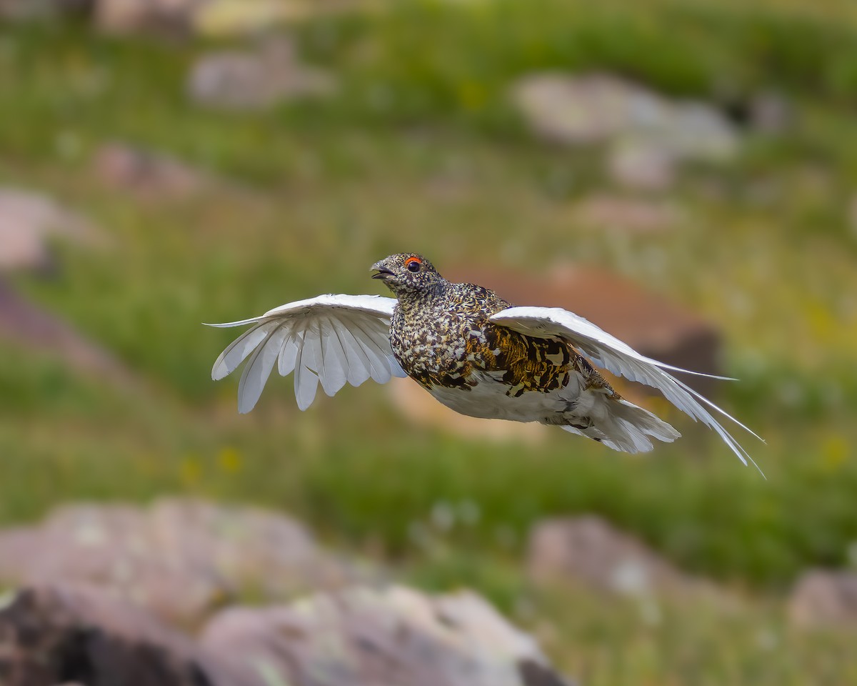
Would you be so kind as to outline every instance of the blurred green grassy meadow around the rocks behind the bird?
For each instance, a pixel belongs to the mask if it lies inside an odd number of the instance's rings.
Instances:
[[[857,679],[854,635],[794,633],[781,602],[801,571],[847,566],[857,541],[857,5],[402,0],[337,3],[281,30],[296,59],[333,75],[324,97],[189,97],[198,57],[252,44],[219,27],[0,24],[0,184],[98,230],[93,244],[57,241],[47,273],[3,278],[127,370],[89,373],[0,336],[0,522],[79,499],[260,503],[421,587],[476,587],[584,683]],[[616,190],[597,147],[545,144],[511,105],[512,83],[543,71],[703,100],[731,117],[740,149],[683,165],[666,189]],[[747,123],[765,93],[787,111],[771,129]],[[93,163],[111,141],[216,180],[117,188]],[[571,208],[596,192],[668,200],[685,219],[578,226]],[[676,414],[685,437],[645,459],[561,431],[537,448],[450,436],[370,383],[299,412],[291,380],[273,379],[237,415],[237,379],[210,380],[236,332],[200,322],[381,292],[369,265],[400,250],[441,272],[606,268],[715,322],[723,370],[740,378],[716,400],[767,440],[745,441],[767,480]],[[439,503],[476,516],[438,528]],[[581,512],[746,595],[746,608],[676,606],[650,623],[620,601],[528,587],[529,527]]]

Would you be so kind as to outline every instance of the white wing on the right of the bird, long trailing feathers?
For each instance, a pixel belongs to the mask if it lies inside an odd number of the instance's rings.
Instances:
[[[689,414],[694,421],[698,419],[706,426],[715,430],[745,465],[747,460],[753,462],[752,457],[722,427],[705,406],[709,406],[716,412],[720,412],[724,417],[731,419],[735,424],[749,431],[753,436],[756,436],[756,434],[702,394],[699,394],[686,383],[675,378],[665,370],[683,371],[690,374],[698,374],[698,372],[671,367],[668,364],[647,358],[615,336],[596,327],[595,324],[584,319],[584,317],[558,307],[510,307],[491,316],[490,321],[494,324],[512,328],[522,334],[536,336],[537,338],[565,339],[604,369],[614,374],[625,376],[632,381],[657,388],[667,400],[682,412]],[[725,377],[717,376],[716,378]],[[756,437],[758,438],[758,436]],[[753,464],[755,465],[756,463],[753,462]]]

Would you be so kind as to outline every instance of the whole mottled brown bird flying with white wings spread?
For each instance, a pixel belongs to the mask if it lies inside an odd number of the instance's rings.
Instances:
[[[359,386],[369,377],[386,383],[410,376],[456,412],[559,426],[626,453],[651,450],[652,439],[673,442],[680,436],[622,398],[598,366],[657,388],[715,430],[745,465],[752,461],[711,411],[758,436],[670,374],[697,372],[647,358],[568,310],[516,307],[488,288],[451,283],[420,255],[392,255],[372,269],[372,278],[395,298],[321,295],[211,325],[249,326],[212,369],[219,380],[247,359],[238,384],[239,412],[253,409],[276,364],[280,375],[294,373],[302,410],[312,404],[319,382],[333,395],[346,382]]]

